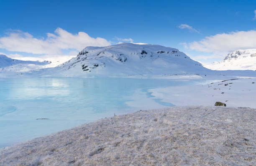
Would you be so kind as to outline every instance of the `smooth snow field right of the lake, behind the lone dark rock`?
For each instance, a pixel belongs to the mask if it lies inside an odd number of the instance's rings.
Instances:
[[[256,108],[256,78],[229,79],[202,85],[149,89],[156,99],[175,106],[214,105],[223,102],[231,107]]]

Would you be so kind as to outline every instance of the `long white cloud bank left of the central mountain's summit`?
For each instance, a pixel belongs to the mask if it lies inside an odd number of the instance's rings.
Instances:
[[[32,54],[61,54],[62,50],[82,50],[87,46],[107,46],[110,42],[104,38],[90,37],[85,32],[73,35],[61,28],[57,28],[54,34],[47,33],[47,38],[39,39],[28,32],[16,30],[0,37],[0,48],[8,51],[27,52]]]

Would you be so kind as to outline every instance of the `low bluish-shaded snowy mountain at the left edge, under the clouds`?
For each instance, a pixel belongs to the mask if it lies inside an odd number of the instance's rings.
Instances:
[[[39,70],[42,66],[50,63],[49,61],[23,61],[0,55],[0,72],[28,72],[31,70]]]

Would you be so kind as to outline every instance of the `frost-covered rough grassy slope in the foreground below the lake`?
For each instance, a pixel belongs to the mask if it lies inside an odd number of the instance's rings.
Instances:
[[[0,149],[1,166],[255,166],[256,109],[170,107]]]

